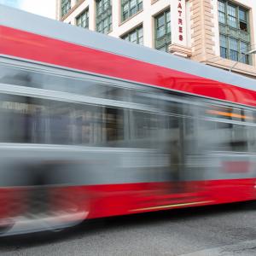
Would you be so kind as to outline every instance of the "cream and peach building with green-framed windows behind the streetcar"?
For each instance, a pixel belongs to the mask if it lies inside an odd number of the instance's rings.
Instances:
[[[56,0],[56,19],[256,79],[255,0]]]

